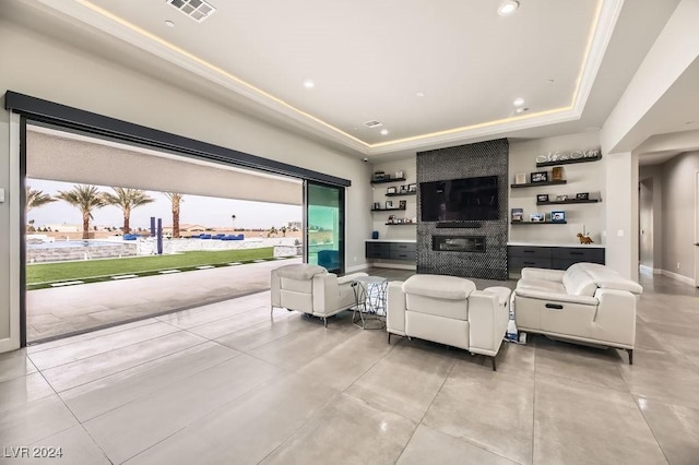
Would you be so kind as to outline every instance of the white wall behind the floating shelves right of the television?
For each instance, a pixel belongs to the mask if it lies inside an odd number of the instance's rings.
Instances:
[[[509,184],[514,183],[514,175],[523,172],[529,176],[532,171],[547,170],[550,179],[550,167],[536,168],[536,157],[546,155],[553,151],[569,152],[574,150],[599,148],[600,139],[597,131],[567,134],[556,138],[545,138],[532,141],[510,141],[509,157]],[[510,242],[530,243],[580,243],[578,233],[583,226],[590,231],[590,237],[595,243],[604,243],[602,236],[604,225],[604,211],[606,208],[605,195],[605,159],[581,164],[562,165],[564,178],[568,181],[561,186],[543,186],[532,188],[509,188],[509,210],[523,208],[524,220],[529,220],[530,213],[541,212],[550,214],[554,210],[566,211],[568,224],[566,225],[510,225]],[[567,194],[574,198],[579,192],[589,192],[590,198],[601,199],[601,203],[562,204],[562,205],[536,205],[536,194],[548,194],[549,199],[556,195]],[[509,214],[509,213],[508,213]]]

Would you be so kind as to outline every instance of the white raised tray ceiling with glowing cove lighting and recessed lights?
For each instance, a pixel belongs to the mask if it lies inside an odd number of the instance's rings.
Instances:
[[[57,29],[187,70],[185,87],[371,158],[601,127],[677,4],[520,0],[501,16],[500,0],[211,0],[198,22],[165,0],[17,1]]]

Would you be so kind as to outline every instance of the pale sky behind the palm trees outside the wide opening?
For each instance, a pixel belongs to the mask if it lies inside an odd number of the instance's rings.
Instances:
[[[73,189],[71,182],[45,181],[40,179],[26,180],[33,190],[42,190],[46,194],[55,195],[58,191]],[[114,192],[110,187],[98,186],[100,191]],[[163,218],[163,226],[173,224],[171,204],[161,192],[146,191],[155,202],[134,208],[131,212],[131,228],[150,228],[151,216]],[[264,228],[272,226],[280,228],[288,222],[301,220],[300,205],[282,205],[277,203],[252,202],[247,200],[218,199],[201,195],[185,195],[180,204],[180,225],[199,224],[206,227],[234,226],[232,215],[236,215],[236,228]],[[93,212],[91,226],[123,226],[123,216],[118,206],[105,206]],[[80,210],[67,202],[57,201],[38,208],[33,208],[26,220],[34,219],[35,227],[46,225],[82,225]]]

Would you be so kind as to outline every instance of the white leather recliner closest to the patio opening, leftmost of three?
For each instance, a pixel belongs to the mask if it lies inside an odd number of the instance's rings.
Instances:
[[[271,291],[274,308],[296,310],[322,318],[328,326],[328,317],[355,306],[352,282],[366,273],[353,273],[337,277],[322,266],[295,264],[272,270]]]

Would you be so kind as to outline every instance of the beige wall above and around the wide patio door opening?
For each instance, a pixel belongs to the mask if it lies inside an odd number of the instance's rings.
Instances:
[[[0,92],[12,90],[88,111],[350,179],[346,257],[362,266],[372,228],[369,166],[214,102],[0,20]],[[10,184],[9,116],[0,117],[0,188]],[[8,192],[19,195],[17,191]],[[0,204],[0,341],[9,336],[8,203]],[[354,258],[357,258],[356,262]],[[0,345],[1,346],[1,345]]]

